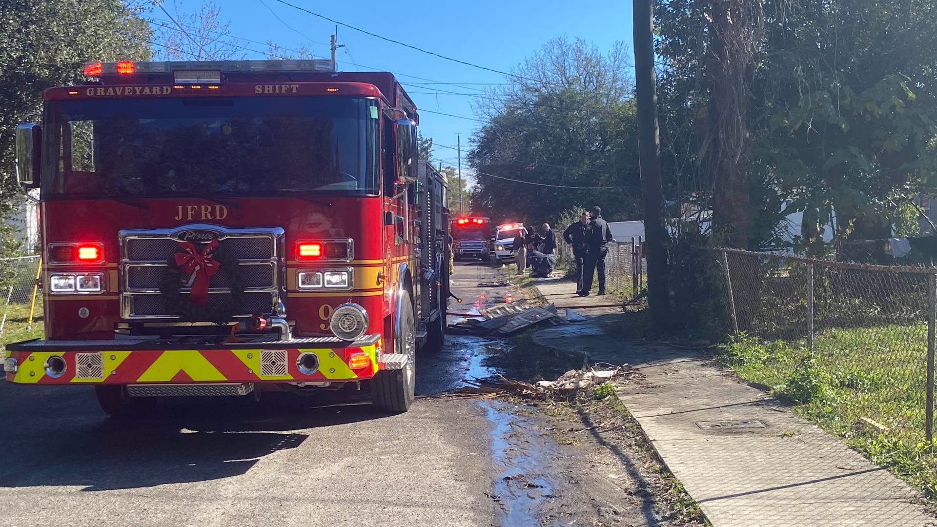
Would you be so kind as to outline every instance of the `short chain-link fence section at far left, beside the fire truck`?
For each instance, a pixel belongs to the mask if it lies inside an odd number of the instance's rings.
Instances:
[[[0,259],[0,301],[4,303],[0,339],[3,342],[11,341],[11,336],[15,338],[22,331],[34,331],[37,321],[41,323],[41,294],[36,286],[38,266],[37,255]]]

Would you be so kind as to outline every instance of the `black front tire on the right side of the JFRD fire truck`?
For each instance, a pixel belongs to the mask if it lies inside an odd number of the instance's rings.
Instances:
[[[416,325],[413,304],[408,297],[402,302],[401,335],[394,339],[394,353],[408,354],[403,369],[382,369],[371,382],[371,402],[383,412],[403,414],[409,410],[416,394]]]

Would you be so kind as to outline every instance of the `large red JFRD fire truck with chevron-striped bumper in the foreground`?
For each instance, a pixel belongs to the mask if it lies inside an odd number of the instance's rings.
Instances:
[[[92,63],[17,129],[45,338],[8,382],[156,397],[370,391],[406,412],[449,296],[444,179],[391,73],[329,61]]]

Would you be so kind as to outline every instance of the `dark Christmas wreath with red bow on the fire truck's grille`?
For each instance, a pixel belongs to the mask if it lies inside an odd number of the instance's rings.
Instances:
[[[217,273],[231,277],[231,297],[226,302],[208,305],[208,289]],[[188,287],[186,298],[182,289]],[[245,311],[244,277],[236,258],[232,258],[217,240],[201,250],[190,242],[179,242],[179,250],[167,262],[159,281],[159,292],[167,312],[184,321],[207,321],[222,325]]]

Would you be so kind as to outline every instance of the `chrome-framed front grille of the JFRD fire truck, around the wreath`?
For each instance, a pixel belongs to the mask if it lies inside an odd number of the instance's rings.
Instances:
[[[179,240],[217,239],[219,252],[228,259],[238,261],[243,279],[243,312],[235,316],[271,314],[277,305],[279,284],[279,252],[282,250],[283,230],[227,229],[216,225],[190,225],[173,231],[122,231],[121,301],[125,319],[172,319],[176,314],[167,309],[160,285],[169,268],[172,255],[182,250]],[[183,237],[188,236],[188,237]],[[196,242],[198,250],[204,246]],[[180,277],[180,293],[189,293],[186,283],[190,276]],[[235,277],[223,270],[209,282],[207,309],[215,310],[231,303]]]

